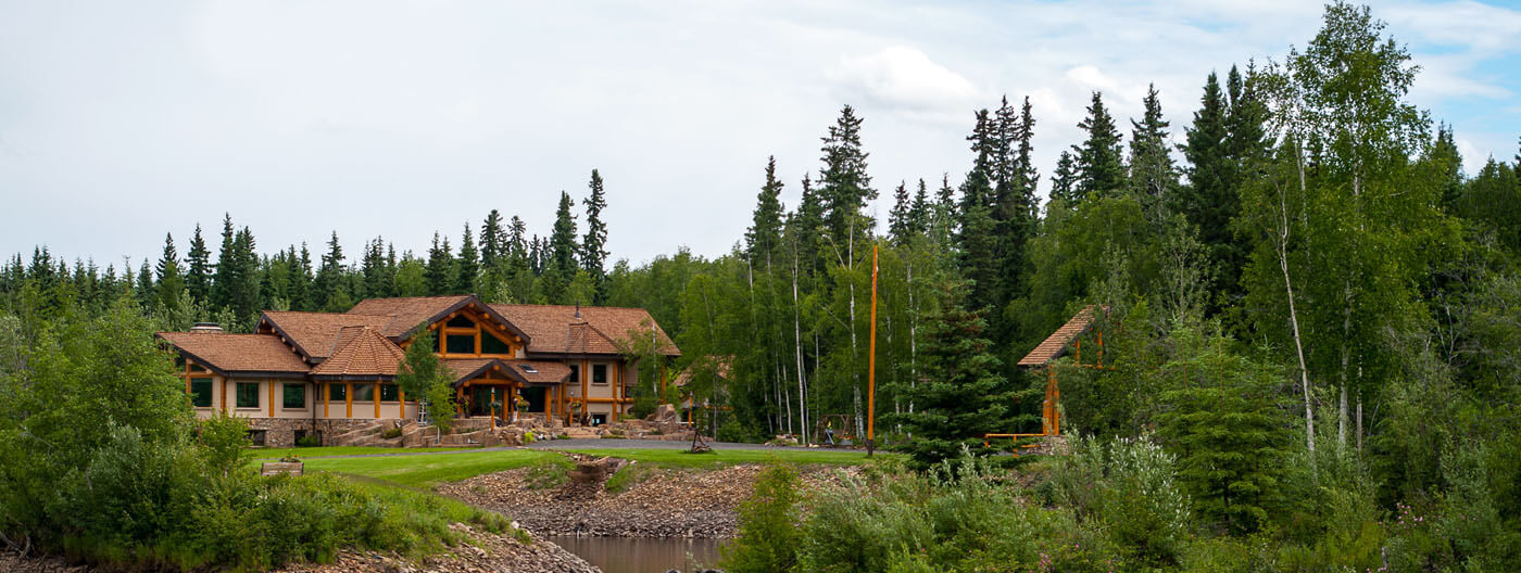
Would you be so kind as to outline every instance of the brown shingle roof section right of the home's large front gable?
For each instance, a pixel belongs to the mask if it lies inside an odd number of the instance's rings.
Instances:
[[[618,354],[614,340],[628,337],[630,331],[643,331],[645,324],[654,328],[662,354],[681,354],[645,309],[548,304],[493,304],[491,309],[528,333],[528,351],[535,354]],[[581,318],[576,318],[578,309]]]

